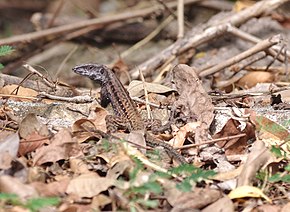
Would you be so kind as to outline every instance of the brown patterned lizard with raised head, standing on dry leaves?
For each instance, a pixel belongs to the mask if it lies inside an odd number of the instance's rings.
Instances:
[[[120,128],[128,131],[144,131],[148,146],[161,146],[180,163],[187,163],[184,157],[170,144],[154,138],[146,131],[145,122],[128,91],[110,68],[103,64],[88,63],[78,65],[72,70],[79,75],[89,77],[101,85],[101,106],[106,107],[111,103],[114,111],[114,115],[107,115],[105,118],[109,133],[116,132]]]

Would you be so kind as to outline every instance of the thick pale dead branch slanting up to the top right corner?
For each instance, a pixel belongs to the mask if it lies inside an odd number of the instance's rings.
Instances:
[[[240,26],[254,17],[259,17],[266,12],[273,11],[288,0],[263,0],[252,7],[246,8],[238,13],[229,12],[224,15],[213,17],[208,23],[194,27],[184,38],[177,40],[174,44],[164,49],[158,55],[145,61],[132,71],[132,78],[139,77],[141,70],[145,77],[150,76],[154,70],[161,67],[167,61],[195,48],[201,44],[207,43],[228,32],[229,26]]]

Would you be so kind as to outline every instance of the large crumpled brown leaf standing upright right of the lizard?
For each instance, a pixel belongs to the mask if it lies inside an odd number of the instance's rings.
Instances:
[[[174,111],[180,111],[185,117],[195,117],[201,123],[196,129],[197,143],[208,139],[208,129],[214,118],[214,106],[211,98],[202,86],[195,69],[187,65],[177,65],[172,70],[173,82],[179,98],[173,104]]]

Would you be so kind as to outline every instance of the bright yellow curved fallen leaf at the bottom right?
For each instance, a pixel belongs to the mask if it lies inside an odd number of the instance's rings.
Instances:
[[[240,186],[232,190],[228,197],[230,199],[239,199],[244,197],[255,197],[255,198],[264,198],[267,202],[272,203],[272,200],[267,197],[259,188],[253,186]]]

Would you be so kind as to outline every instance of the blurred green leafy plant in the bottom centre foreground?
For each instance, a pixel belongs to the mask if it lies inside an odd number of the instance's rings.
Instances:
[[[191,191],[192,182],[207,179],[215,174],[213,171],[205,171],[187,164],[172,168],[168,173],[154,172],[148,176],[146,175],[147,171],[143,163],[137,158],[133,158],[133,160],[135,162],[135,167],[129,172],[129,186],[126,187],[124,191],[126,199],[130,200],[129,207],[131,211],[138,211],[139,207],[144,207],[146,210],[156,209],[159,206],[159,201],[150,199],[150,197],[151,195],[157,196],[164,193],[164,188],[160,179],[170,179],[173,176],[179,175],[184,177],[184,179],[177,184],[177,188],[182,191]],[[142,184],[140,184],[140,178],[138,178],[140,174],[144,175],[145,178],[148,177],[146,182]],[[120,184],[124,185],[126,183],[120,181]]]

